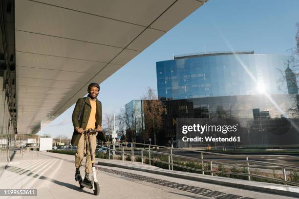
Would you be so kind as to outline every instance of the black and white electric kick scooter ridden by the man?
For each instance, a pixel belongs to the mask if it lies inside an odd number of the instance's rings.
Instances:
[[[90,137],[89,137],[89,133],[90,132],[95,132],[95,130],[93,129],[88,129],[85,130],[83,133],[87,133],[87,138],[88,138],[88,143],[89,143],[89,152],[90,152],[90,159],[91,159],[91,164],[92,164],[92,179],[91,179],[91,185],[89,184],[85,184],[83,182],[82,177],[80,176],[78,181],[79,181],[79,185],[80,188],[83,189],[84,187],[88,188],[88,189],[93,189],[93,193],[94,195],[99,195],[100,193],[100,185],[99,185],[99,181],[97,179],[97,174],[96,174],[96,168],[94,166],[94,159],[93,159],[93,155],[92,155],[92,148],[91,148],[91,143],[90,143]]]

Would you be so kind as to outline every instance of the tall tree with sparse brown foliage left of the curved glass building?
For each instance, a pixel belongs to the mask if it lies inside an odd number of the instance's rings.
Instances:
[[[143,97],[144,101],[144,116],[147,135],[150,132],[154,136],[154,144],[157,145],[156,135],[163,127],[163,113],[165,111],[161,100],[157,99],[154,90],[148,87],[147,93]]]

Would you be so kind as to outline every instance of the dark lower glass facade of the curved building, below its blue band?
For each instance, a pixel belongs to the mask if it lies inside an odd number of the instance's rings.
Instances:
[[[289,124],[287,130],[280,128],[285,118],[294,118],[293,123],[299,126],[298,99],[298,94],[276,94],[165,100],[164,141],[167,144],[171,137],[176,139],[178,118],[229,118],[242,121],[246,127],[248,125],[242,135],[232,135],[242,137],[239,143],[242,146],[298,145],[299,132],[296,128],[289,128]],[[197,144],[207,145],[202,142]],[[186,146],[189,147],[188,143]]]

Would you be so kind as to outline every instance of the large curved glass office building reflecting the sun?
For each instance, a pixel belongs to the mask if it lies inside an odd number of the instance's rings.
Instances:
[[[158,97],[166,107],[164,143],[177,139],[179,118],[233,118],[242,123],[242,146],[298,144],[299,95],[289,59],[247,51],[157,62]],[[207,144],[213,143],[193,146]]]

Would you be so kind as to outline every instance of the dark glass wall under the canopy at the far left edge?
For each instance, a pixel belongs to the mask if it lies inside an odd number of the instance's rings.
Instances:
[[[0,175],[15,154],[17,133],[14,4],[1,1],[0,13]],[[4,27],[4,28],[3,28]]]

